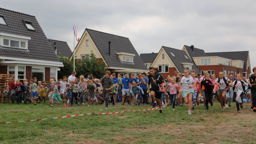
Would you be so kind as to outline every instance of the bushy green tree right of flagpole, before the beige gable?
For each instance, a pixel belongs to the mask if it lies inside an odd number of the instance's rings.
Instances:
[[[93,74],[95,78],[101,78],[108,68],[106,68],[104,62],[97,61],[95,54],[91,51],[90,58],[81,58],[81,63],[77,62],[75,69],[77,76],[84,75],[87,77],[87,75]]]

